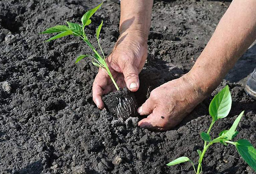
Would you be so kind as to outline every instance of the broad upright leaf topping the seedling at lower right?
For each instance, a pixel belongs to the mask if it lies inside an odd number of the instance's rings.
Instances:
[[[209,105],[209,114],[212,116],[212,119],[216,121],[217,119],[225,118],[230,112],[231,104],[230,90],[226,86],[212,99]]]

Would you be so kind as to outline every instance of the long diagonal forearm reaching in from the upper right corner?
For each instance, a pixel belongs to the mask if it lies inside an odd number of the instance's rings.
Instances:
[[[233,0],[188,73],[203,94],[214,90],[256,39],[256,0]],[[245,67],[246,68],[246,67]]]

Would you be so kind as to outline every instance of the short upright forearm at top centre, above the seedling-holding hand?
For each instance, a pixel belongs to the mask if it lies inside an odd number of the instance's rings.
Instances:
[[[153,0],[122,0],[120,33],[135,31],[148,39]]]

